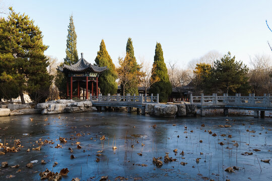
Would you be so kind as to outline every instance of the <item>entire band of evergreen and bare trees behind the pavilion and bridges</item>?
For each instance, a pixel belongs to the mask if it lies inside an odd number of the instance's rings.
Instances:
[[[8,18],[0,19],[0,99],[11,100],[20,96],[24,104],[24,93],[35,104],[66,98],[67,77],[55,68],[79,60],[73,16],[70,16],[67,31],[66,56],[63,62],[57,63],[55,58],[44,55],[48,46],[43,45],[42,32],[34,21],[10,8]],[[222,56],[212,51],[192,60],[184,69],[179,68],[177,62],[169,62],[166,66],[162,46],[157,42],[153,65],[144,57],[140,60],[138,63],[132,39],[128,38],[126,55],[118,57],[115,66],[102,39],[94,60],[95,65],[108,67],[99,76],[100,92],[114,95],[119,84],[122,95],[138,95],[138,86],[143,86],[146,93],[149,88],[150,94],[160,94],[160,102],[167,102],[172,87],[182,90],[189,86],[194,95],[254,93],[262,96],[272,93],[272,61],[267,56],[253,57],[251,67],[248,67],[230,52]]]

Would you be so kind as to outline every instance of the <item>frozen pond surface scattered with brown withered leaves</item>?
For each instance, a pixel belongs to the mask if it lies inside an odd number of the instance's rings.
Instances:
[[[0,180],[40,180],[46,168],[59,172],[66,167],[70,172],[61,180],[100,180],[106,175],[110,180],[272,180],[272,165],[261,161],[272,159],[271,130],[271,118],[252,117],[174,119],[111,112],[0,117],[0,143],[17,147],[14,140],[20,139],[22,146],[0,155],[0,162],[9,164],[0,168]],[[62,148],[55,148],[57,144]],[[165,163],[165,152],[176,161]],[[157,167],[153,157],[162,157],[163,165]],[[38,160],[33,168],[26,167],[33,160]],[[239,170],[225,171],[230,166]]]

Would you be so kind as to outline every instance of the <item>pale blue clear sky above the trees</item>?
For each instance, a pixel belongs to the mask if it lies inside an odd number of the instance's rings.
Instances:
[[[104,39],[115,64],[125,55],[128,37],[135,57],[153,62],[156,42],[162,44],[165,62],[180,66],[211,50],[230,51],[238,60],[271,54],[272,1],[37,1],[3,0],[4,8],[13,6],[26,13],[43,32],[46,55],[59,61],[65,57],[67,25],[73,13],[80,56],[90,63]],[[8,11],[7,11],[8,12]]]

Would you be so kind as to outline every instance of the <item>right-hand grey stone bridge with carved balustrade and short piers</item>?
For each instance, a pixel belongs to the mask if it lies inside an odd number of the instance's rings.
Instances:
[[[268,94],[263,96],[255,96],[249,94],[249,96],[241,96],[236,94],[235,96],[218,96],[213,94],[212,96],[192,96],[190,95],[190,103],[195,104],[197,109],[200,109],[200,115],[205,116],[205,110],[207,109],[224,109],[224,114],[228,115],[229,109],[233,110],[251,110],[254,111],[254,117],[264,118],[265,111],[272,112],[272,97]]]

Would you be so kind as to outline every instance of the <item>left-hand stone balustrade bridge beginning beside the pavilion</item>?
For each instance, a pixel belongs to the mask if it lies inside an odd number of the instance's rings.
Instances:
[[[105,107],[127,107],[127,112],[131,112],[132,108],[137,108],[137,113],[141,113],[143,115],[146,114],[146,104],[157,103],[159,104],[159,94],[157,96],[147,96],[147,94],[140,94],[139,96],[131,96],[127,94],[126,96],[120,96],[117,94],[116,96],[111,96],[108,94],[107,96],[102,96],[99,94],[98,96],[90,96],[90,101],[92,101],[93,106],[101,109],[102,111]]]

